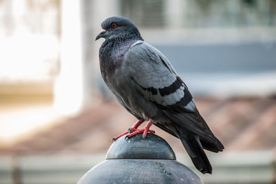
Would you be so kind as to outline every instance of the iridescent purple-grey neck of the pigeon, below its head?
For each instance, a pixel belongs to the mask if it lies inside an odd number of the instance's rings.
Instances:
[[[137,39],[121,40],[117,38],[106,39],[99,49],[101,70],[115,70],[124,60],[124,54]]]

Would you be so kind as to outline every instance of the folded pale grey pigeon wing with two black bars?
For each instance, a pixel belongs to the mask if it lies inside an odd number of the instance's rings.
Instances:
[[[138,42],[126,52],[125,72],[137,90],[173,121],[206,141],[217,141],[200,116],[185,83],[168,59],[148,43]]]

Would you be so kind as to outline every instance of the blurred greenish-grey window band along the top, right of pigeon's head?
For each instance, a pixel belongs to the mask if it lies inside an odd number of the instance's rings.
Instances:
[[[275,0],[121,0],[121,13],[144,28],[171,25],[177,19],[183,28],[276,25]]]

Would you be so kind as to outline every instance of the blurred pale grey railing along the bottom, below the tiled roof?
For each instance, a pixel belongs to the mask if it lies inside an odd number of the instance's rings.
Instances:
[[[41,154],[0,156],[0,184],[77,183],[91,167],[104,160],[99,154]],[[190,167],[204,183],[275,183],[273,151],[209,154],[213,174],[193,169],[187,154],[177,153],[177,161]]]

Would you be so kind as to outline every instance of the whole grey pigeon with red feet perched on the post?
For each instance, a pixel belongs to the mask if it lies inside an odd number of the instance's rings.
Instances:
[[[224,145],[201,117],[187,85],[170,61],[146,43],[138,28],[126,17],[110,17],[101,23],[97,39],[101,76],[117,101],[137,122],[113,140],[126,134],[155,133],[152,124],[181,140],[193,164],[203,174],[212,174],[205,150],[222,152]],[[148,121],[146,126],[139,125]]]

